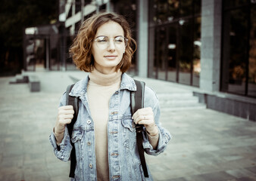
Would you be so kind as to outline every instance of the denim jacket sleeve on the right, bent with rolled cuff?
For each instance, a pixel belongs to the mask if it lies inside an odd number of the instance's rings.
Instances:
[[[158,102],[158,98],[155,95],[155,92],[149,87],[145,87],[145,107],[151,107],[155,116],[155,124],[158,126],[159,130],[159,139],[158,139],[158,148],[153,149],[148,140],[148,135],[145,132],[145,127],[143,131],[143,148],[148,155],[159,155],[161,152],[164,152],[164,149],[167,148],[167,144],[171,139],[171,135],[168,130],[164,127],[161,127],[160,115],[161,110]]]

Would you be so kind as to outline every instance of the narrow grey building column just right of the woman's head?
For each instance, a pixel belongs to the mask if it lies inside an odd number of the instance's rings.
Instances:
[[[137,71],[148,77],[148,0],[137,0]]]

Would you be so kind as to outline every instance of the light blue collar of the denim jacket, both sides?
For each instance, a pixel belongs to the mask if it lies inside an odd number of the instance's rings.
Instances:
[[[89,82],[89,75],[87,75],[86,78],[77,81],[76,84],[74,84],[72,90],[70,91],[70,96],[73,97],[83,97],[86,95],[87,92],[87,85]],[[136,84],[133,78],[131,78],[126,73],[123,73],[121,78],[121,84],[120,84],[120,90],[130,90],[130,91],[136,91]]]

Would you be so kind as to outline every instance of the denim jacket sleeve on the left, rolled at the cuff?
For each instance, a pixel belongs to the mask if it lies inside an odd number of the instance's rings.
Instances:
[[[66,105],[66,94],[61,97],[60,107]],[[64,138],[61,141],[61,144],[58,146],[55,140],[55,135],[52,132],[49,137],[50,143],[54,149],[55,155],[61,161],[69,161],[70,159],[70,152],[72,150],[72,146],[70,144],[70,135],[67,130],[67,126],[64,130]]]

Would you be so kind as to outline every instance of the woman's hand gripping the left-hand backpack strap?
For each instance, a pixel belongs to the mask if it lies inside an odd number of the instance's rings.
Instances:
[[[73,106],[61,106],[58,108],[58,119],[54,130],[55,136],[64,133],[65,125],[70,124],[73,114]]]

